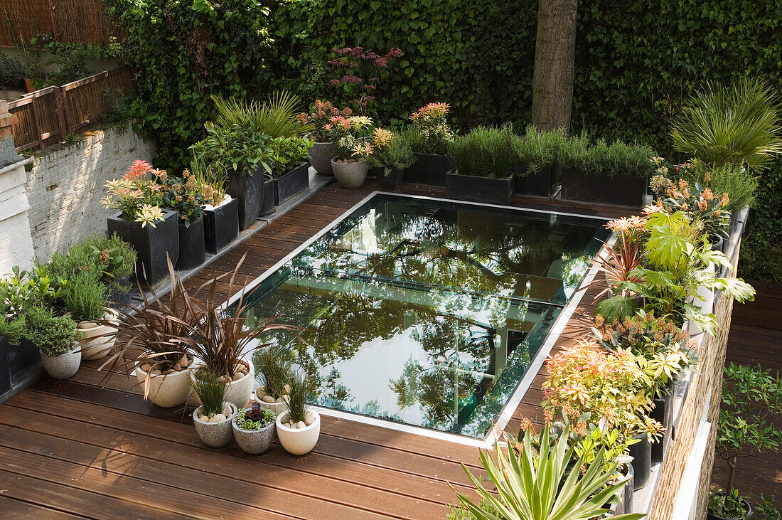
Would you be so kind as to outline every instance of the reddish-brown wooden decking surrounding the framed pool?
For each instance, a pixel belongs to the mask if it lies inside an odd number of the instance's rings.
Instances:
[[[191,287],[231,271],[262,274],[368,195],[376,185],[332,184],[188,278]],[[404,192],[442,195],[411,185]],[[585,206],[517,199],[517,206],[596,214]],[[615,217],[620,208],[603,208]],[[228,296],[225,285],[221,296]],[[592,298],[555,348],[590,321]],[[459,461],[479,468],[472,447],[359,422],[322,417],[314,451],[292,457],[275,444],[246,456],[234,444],[204,446],[191,420],[142,400],[137,386],[113,378],[100,388],[95,362],[71,380],[45,378],[0,406],[2,518],[444,518],[457,490],[470,489]],[[508,425],[540,420],[539,374]]]

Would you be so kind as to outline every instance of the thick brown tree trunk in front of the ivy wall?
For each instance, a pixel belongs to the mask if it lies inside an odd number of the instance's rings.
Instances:
[[[533,74],[533,124],[570,131],[578,0],[540,0]]]

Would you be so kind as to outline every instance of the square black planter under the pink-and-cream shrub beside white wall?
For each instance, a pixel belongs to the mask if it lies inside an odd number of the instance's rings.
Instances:
[[[165,220],[157,222],[155,227],[122,218],[121,213],[106,219],[109,236],[117,233],[120,238],[133,246],[138,254],[136,260],[136,278],[142,285],[152,287],[168,277],[166,255],[171,264],[176,265],[179,257],[178,213],[167,211]]]

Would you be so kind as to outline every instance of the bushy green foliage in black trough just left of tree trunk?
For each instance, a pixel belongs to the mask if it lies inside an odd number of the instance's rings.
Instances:
[[[517,162],[516,143],[521,139],[513,126],[502,129],[477,127],[467,135],[459,135],[450,145],[457,174],[475,177],[508,178]]]

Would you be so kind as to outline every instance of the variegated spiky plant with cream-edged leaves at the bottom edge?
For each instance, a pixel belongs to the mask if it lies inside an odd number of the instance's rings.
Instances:
[[[524,436],[522,450],[505,449],[499,439],[494,457],[481,450],[480,459],[489,479],[497,488],[491,493],[472,472],[461,464],[482,501],[477,505],[454,490],[461,504],[479,520],[589,520],[601,518],[604,504],[619,493],[624,481],[612,482],[616,463],[604,471],[604,450],[590,463],[569,446],[569,431],[551,443],[543,430],[540,449],[533,450],[531,434]],[[575,464],[572,464],[575,463]],[[586,468],[579,472],[578,468]],[[568,472],[568,468],[576,468]],[[616,520],[640,520],[645,515],[620,515]]]

